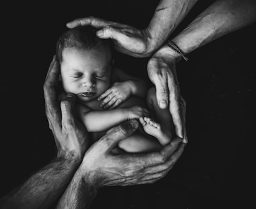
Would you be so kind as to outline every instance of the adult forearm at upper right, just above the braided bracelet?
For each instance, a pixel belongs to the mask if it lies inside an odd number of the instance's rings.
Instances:
[[[255,0],[220,0],[196,17],[173,38],[180,49],[189,52],[256,20]]]

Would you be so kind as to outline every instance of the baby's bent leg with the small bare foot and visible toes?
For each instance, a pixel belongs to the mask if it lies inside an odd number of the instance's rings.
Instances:
[[[152,114],[151,118],[140,118],[140,123],[143,125],[143,129],[147,134],[156,137],[163,146],[170,143],[174,126],[172,121],[172,115],[169,109],[159,108],[156,100],[156,89],[150,88],[147,95],[147,106]]]

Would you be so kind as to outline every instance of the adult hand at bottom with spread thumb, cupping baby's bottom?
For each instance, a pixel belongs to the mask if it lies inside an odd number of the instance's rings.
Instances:
[[[112,128],[95,142],[84,155],[78,173],[93,188],[115,185],[154,183],[163,178],[184,150],[185,144],[177,137],[160,152],[115,153],[118,142],[138,128],[136,120]]]

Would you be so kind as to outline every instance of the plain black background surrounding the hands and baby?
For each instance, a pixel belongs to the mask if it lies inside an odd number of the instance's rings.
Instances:
[[[212,1],[199,1],[174,34]],[[42,86],[65,23],[93,15],[147,27],[158,1],[15,3],[1,7],[1,176],[3,196],[55,155]],[[187,102],[189,144],[152,185],[107,187],[93,208],[241,208],[253,201],[255,24],[189,54],[177,66]],[[147,58],[115,54],[116,65],[147,79]],[[140,74],[138,75],[138,72]],[[149,81],[148,81],[149,82]]]

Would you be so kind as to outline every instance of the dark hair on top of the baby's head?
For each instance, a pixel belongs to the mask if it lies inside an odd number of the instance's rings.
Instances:
[[[56,55],[60,63],[63,60],[62,52],[67,48],[77,49],[92,49],[100,42],[106,42],[106,40],[100,40],[96,36],[96,29],[92,26],[76,27],[74,29],[68,29],[63,33],[56,46]]]

